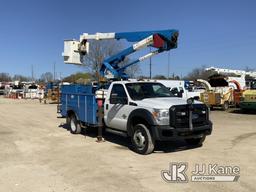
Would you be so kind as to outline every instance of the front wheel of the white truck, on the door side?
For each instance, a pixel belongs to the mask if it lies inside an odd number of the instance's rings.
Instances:
[[[154,151],[155,142],[148,128],[143,124],[137,124],[134,127],[131,140],[136,153],[147,155]]]

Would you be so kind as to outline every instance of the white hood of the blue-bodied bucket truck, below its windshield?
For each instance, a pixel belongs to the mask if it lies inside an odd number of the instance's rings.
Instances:
[[[140,101],[136,101],[140,107],[148,107],[155,109],[169,109],[173,105],[186,105],[187,100],[177,97],[164,97],[164,98],[147,98]],[[195,104],[200,104],[201,102],[195,101]]]

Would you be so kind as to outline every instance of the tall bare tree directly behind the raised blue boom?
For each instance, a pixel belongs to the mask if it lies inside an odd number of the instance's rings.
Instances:
[[[123,49],[122,43],[117,40],[91,40],[89,54],[84,57],[84,67],[94,76],[99,73],[101,65],[105,58],[110,57]],[[129,63],[126,58],[119,66]],[[125,71],[130,77],[134,77],[140,71],[138,65],[132,65]]]

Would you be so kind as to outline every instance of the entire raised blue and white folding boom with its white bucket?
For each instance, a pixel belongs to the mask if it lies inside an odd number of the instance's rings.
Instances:
[[[131,47],[104,59],[100,75],[102,77],[108,77],[112,74],[111,78],[127,79],[128,76],[125,74],[125,69],[135,63],[150,58],[163,51],[169,51],[170,49],[177,48],[178,31],[177,30],[161,30],[161,31],[141,31],[141,32],[124,32],[124,33],[96,33],[89,35],[84,33],[80,36],[80,41],[77,40],[66,40],[64,41],[64,62],[70,64],[81,65],[83,63],[83,57],[89,53],[89,42],[88,40],[106,40],[106,39],[125,39],[128,42],[137,42]],[[151,46],[155,48],[152,52],[141,56],[140,58],[126,64],[123,67],[118,66],[124,59],[144,48]]]

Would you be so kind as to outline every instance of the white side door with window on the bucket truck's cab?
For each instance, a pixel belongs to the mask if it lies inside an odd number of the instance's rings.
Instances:
[[[104,104],[104,121],[108,127],[126,131],[129,107],[131,107],[128,102],[124,86],[114,84]]]

